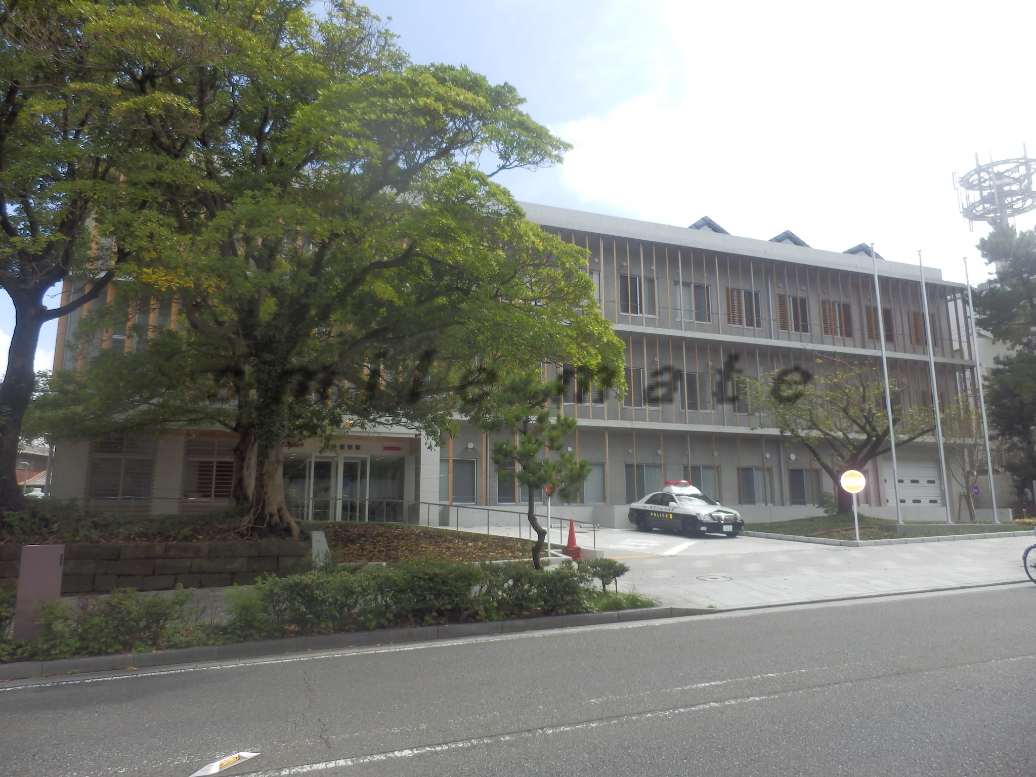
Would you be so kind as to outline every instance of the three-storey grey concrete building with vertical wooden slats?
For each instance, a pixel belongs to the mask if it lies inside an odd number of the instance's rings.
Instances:
[[[579,421],[571,450],[593,465],[582,498],[562,508],[564,515],[626,525],[625,505],[672,479],[693,481],[707,494],[738,506],[749,521],[814,515],[821,491],[833,490],[830,479],[804,448],[768,427],[768,419],[750,412],[727,386],[736,375],[811,364],[817,354],[876,359],[879,315],[901,401],[931,402],[915,264],[877,258],[879,314],[872,259],[864,244],[835,253],[812,249],[792,232],[771,240],[737,237],[709,219],[680,228],[525,208],[545,230],[586,249],[586,271],[601,309],[626,343],[625,398],[576,377],[559,403],[559,412]],[[925,269],[925,281],[936,392],[941,402],[952,403],[970,397],[974,387],[963,286],[931,268]],[[175,321],[175,310],[152,309],[150,316]],[[59,326],[56,368],[81,366],[82,350],[66,345],[74,329],[75,320]],[[124,332],[106,337],[95,347],[133,347]],[[422,522],[431,505],[523,509],[527,495],[494,469],[491,436],[462,423],[441,448],[428,442],[410,430],[386,428],[343,431],[333,451],[315,441],[287,450],[285,478],[293,507],[300,517],[420,514]],[[233,444],[226,433],[203,430],[159,439],[61,443],[52,491],[134,510],[208,509],[229,494]],[[869,514],[894,517],[891,467],[882,459],[867,469],[861,503]],[[899,480],[911,518],[945,518],[930,439],[899,451]],[[421,502],[426,507],[415,506]]]

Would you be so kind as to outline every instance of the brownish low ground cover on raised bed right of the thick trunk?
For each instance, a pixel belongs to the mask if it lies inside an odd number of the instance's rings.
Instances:
[[[342,564],[401,562],[425,555],[452,562],[527,558],[534,544],[513,537],[406,523],[307,521],[300,525],[323,531],[332,554]]]

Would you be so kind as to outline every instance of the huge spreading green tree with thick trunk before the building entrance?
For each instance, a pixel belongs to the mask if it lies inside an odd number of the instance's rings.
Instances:
[[[155,68],[155,35],[195,66]],[[513,87],[412,65],[347,3],[320,20],[289,0],[169,3],[146,24],[111,21],[107,36],[126,98],[169,114],[145,116],[150,167],[136,174],[161,179],[153,211],[177,251],[126,284],[125,305],[148,286],[180,306],[193,388],[165,395],[174,418],[205,396],[203,376],[233,404],[213,421],[240,435],[246,530],[296,530],[282,447],[345,414],[439,435],[462,394],[528,364],[615,374],[622,345],[586,301],[584,257],[492,180],[567,148]],[[127,393],[110,418],[144,409],[159,425],[153,394],[134,406]]]

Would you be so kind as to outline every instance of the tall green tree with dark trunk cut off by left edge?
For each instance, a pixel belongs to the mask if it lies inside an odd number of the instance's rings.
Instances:
[[[40,326],[105,291],[138,256],[149,192],[120,177],[139,124],[100,65],[91,29],[110,8],[65,0],[0,0],[0,287],[15,308],[0,383],[0,511],[24,505],[16,467],[35,385]],[[112,243],[119,228],[124,239]],[[92,287],[56,308],[47,293],[89,270]]]

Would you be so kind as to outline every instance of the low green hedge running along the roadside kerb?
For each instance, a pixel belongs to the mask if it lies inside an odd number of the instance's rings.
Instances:
[[[625,566],[625,565],[620,565]],[[636,593],[603,591],[604,577],[573,564],[547,570],[528,562],[460,564],[429,559],[367,567],[329,564],[299,574],[267,575],[229,597],[223,620],[206,616],[193,592],[139,594],[120,588],[75,605],[47,602],[39,633],[16,645],[0,636],[0,661],[225,644],[248,639],[367,629],[477,623],[573,612],[652,607]],[[605,582],[607,580],[607,582]],[[12,606],[0,599],[0,627]],[[5,614],[7,613],[7,614]],[[211,613],[209,613],[210,615]],[[4,628],[2,634],[6,634]]]

